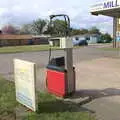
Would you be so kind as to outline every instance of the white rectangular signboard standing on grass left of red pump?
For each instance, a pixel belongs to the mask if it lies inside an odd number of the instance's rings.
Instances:
[[[14,60],[16,100],[33,111],[36,111],[35,70],[35,63]]]

